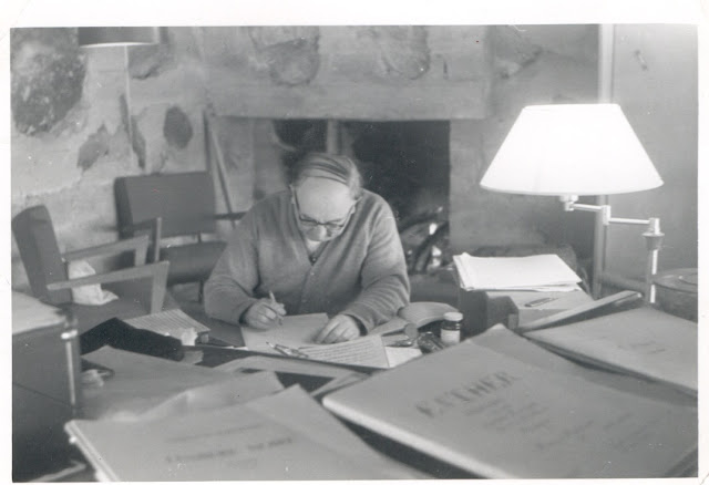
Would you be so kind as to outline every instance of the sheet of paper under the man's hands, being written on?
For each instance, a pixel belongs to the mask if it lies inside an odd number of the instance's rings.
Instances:
[[[299,348],[312,344],[312,340],[328,322],[326,313],[294,314],[282,318],[280,326],[260,331],[246,326],[242,327],[244,343],[255,352],[276,352],[267,342]]]

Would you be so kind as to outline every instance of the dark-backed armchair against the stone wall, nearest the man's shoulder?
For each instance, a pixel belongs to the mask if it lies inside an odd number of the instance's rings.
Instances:
[[[167,285],[199,282],[209,277],[226,242],[206,240],[215,234],[217,220],[237,220],[244,213],[216,214],[212,174],[141,175],[116,178],[115,203],[122,237],[150,233],[148,260],[169,261]],[[191,236],[187,242],[169,244],[166,238]]]

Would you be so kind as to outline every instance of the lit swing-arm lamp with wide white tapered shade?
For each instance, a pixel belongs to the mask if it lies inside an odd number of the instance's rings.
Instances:
[[[592,288],[599,296],[605,234],[612,224],[646,226],[645,299],[655,301],[653,276],[664,234],[659,218],[612,217],[610,206],[578,204],[662,185],[653,162],[617,104],[527,106],[520,113],[480,185],[489,190],[559,197],[564,210],[596,213]],[[604,200],[602,200],[604,202]]]

